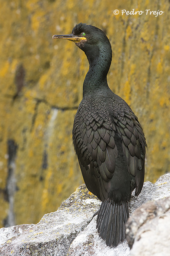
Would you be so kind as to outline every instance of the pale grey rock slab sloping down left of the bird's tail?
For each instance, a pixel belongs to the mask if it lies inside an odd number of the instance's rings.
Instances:
[[[99,207],[100,201],[81,185],[57,211],[0,245],[0,255],[65,256]]]

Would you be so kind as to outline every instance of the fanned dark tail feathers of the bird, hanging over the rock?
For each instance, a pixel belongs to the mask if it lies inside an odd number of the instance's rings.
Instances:
[[[106,241],[107,246],[117,246],[125,239],[125,223],[129,218],[127,202],[122,204],[111,203],[107,200],[102,202],[98,217],[97,230],[99,236]]]

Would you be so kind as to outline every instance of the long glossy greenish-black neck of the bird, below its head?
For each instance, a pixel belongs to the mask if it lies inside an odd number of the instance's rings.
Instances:
[[[107,73],[111,65],[111,48],[93,48],[85,52],[89,60],[89,71],[83,83],[83,97],[92,93],[97,93],[107,85]]]

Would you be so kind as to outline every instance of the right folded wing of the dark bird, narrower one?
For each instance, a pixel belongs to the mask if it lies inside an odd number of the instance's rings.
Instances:
[[[139,195],[144,182],[146,140],[142,127],[133,111],[122,111],[122,116],[113,117],[127,159],[128,171],[135,176],[135,194]]]

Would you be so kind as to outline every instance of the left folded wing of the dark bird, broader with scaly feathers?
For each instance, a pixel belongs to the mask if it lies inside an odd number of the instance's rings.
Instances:
[[[87,113],[74,124],[73,140],[87,188],[102,201],[108,198],[109,180],[118,156],[115,126],[99,113]]]

